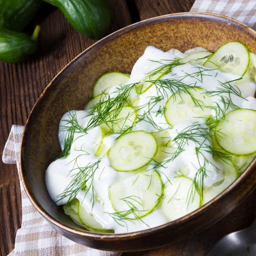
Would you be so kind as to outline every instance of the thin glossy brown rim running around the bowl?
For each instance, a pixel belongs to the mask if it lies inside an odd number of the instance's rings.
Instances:
[[[157,226],[157,227],[152,227],[150,229],[146,229],[146,230],[140,230],[140,231],[136,231],[136,232],[131,232],[131,233],[116,233],[116,234],[111,234],[111,233],[94,233],[94,232],[90,232],[87,230],[80,230],[80,229],[76,229],[76,228],[72,228],[67,226],[67,224],[62,223],[58,220],[56,220],[55,218],[53,218],[52,216],[50,216],[47,212],[44,211],[44,208],[40,206],[40,204],[38,203],[38,201],[33,197],[33,193],[30,191],[29,189],[29,185],[27,184],[26,180],[28,180],[27,176],[26,176],[26,172],[25,172],[25,165],[23,163],[23,155],[24,155],[24,148],[25,148],[25,144],[26,144],[26,134],[27,131],[29,129],[29,125],[30,125],[30,121],[34,115],[34,113],[37,111],[38,105],[41,102],[42,98],[44,97],[44,94],[47,92],[47,90],[49,90],[49,87],[52,85],[53,81],[55,81],[59,76],[61,76],[61,74],[67,69],[67,67],[69,67],[71,64],[73,64],[73,62],[75,62],[76,60],[78,60],[78,58],[81,55],[84,55],[85,53],[89,52],[90,49],[93,49],[95,47],[100,47],[102,44],[104,44],[105,42],[108,42],[109,40],[111,40],[112,38],[114,38],[116,35],[122,34],[124,32],[129,31],[130,29],[135,29],[138,26],[140,27],[140,25],[148,25],[151,23],[154,23],[154,21],[158,21],[158,20],[164,20],[165,18],[169,18],[169,17],[179,17],[179,16],[186,16],[186,17],[204,17],[204,18],[208,18],[210,16],[213,17],[217,17],[217,18],[221,18],[224,20],[230,20],[233,23],[237,23],[239,26],[243,26],[244,29],[247,29],[249,32],[256,34],[256,31],[254,31],[252,28],[250,28],[249,26],[245,25],[244,23],[235,20],[233,18],[224,16],[224,15],[218,15],[218,14],[213,14],[213,13],[207,13],[207,12],[180,12],[180,13],[174,13],[174,14],[167,14],[167,15],[161,15],[161,16],[157,16],[157,17],[152,17],[150,19],[146,19],[146,20],[142,20],[140,22],[131,24],[129,26],[126,26],[122,29],[119,29],[113,33],[111,33],[110,35],[107,35],[105,38],[102,38],[101,40],[97,41],[96,43],[94,43],[93,45],[91,45],[90,47],[88,47],[87,49],[85,49],[83,52],[81,52],[78,56],[76,56],[76,58],[74,58],[72,61],[70,61],[53,79],[52,81],[47,85],[47,87],[44,89],[44,91],[42,92],[41,96],[38,98],[37,102],[35,103],[34,107],[32,108],[31,113],[29,114],[29,117],[26,121],[26,125],[22,134],[22,138],[21,138],[21,143],[20,143],[20,154],[19,154],[19,166],[20,166],[20,176],[21,176],[21,180],[22,180],[22,184],[24,186],[24,189],[26,191],[26,194],[29,198],[29,200],[31,201],[31,203],[33,204],[33,206],[38,210],[38,212],[44,217],[46,218],[51,224],[55,225],[56,227],[62,229],[62,230],[66,230],[70,233],[75,233],[79,236],[83,236],[84,238],[88,238],[88,239],[94,239],[94,240],[106,240],[106,241],[110,241],[110,240],[126,240],[131,238],[131,236],[133,238],[137,238],[137,237],[144,237],[144,236],[148,236],[149,233],[154,234],[157,233],[157,231],[162,230],[162,229],[166,229],[169,227],[172,227],[174,225],[177,225],[181,222],[185,222],[185,221],[191,221],[199,212],[204,212],[206,211],[206,209],[213,203],[215,203],[216,201],[218,201],[220,198],[222,198],[224,195],[226,195],[227,193],[229,193],[238,183],[240,183],[242,180],[246,179],[247,176],[249,176],[250,172],[253,171],[253,169],[251,167],[253,167],[256,164],[256,158],[254,158],[254,160],[250,163],[250,165],[247,167],[247,169],[230,185],[227,187],[227,189],[225,189],[223,192],[221,192],[217,197],[215,197],[214,199],[212,199],[211,201],[209,201],[207,204],[204,204],[203,206],[199,207],[198,209],[196,209],[195,211],[175,220],[175,221],[171,221],[171,222],[167,222],[166,224]],[[23,168],[24,166],[24,168]],[[242,200],[241,200],[242,201]],[[239,202],[241,203],[241,202]],[[229,211],[230,212],[230,211]]]

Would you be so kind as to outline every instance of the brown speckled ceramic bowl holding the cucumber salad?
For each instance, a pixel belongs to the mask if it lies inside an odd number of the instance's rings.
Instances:
[[[184,52],[194,47],[215,51],[241,41],[256,53],[256,32],[228,17],[203,13],[164,15],[133,24],[98,41],[70,62],[44,90],[26,123],[20,173],[35,208],[63,236],[102,250],[135,251],[160,247],[204,230],[231,212],[256,185],[256,160],[224,192],[196,211],[159,227],[126,234],[91,233],[78,227],[49,197],[44,174],[58,156],[58,123],[67,107],[82,109],[94,82],[110,71],[131,73],[145,47]]]

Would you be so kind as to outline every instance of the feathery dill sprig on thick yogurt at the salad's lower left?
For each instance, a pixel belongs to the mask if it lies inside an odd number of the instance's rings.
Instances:
[[[77,158],[72,160],[70,163],[73,161],[76,162],[76,168],[75,164],[73,166],[73,169],[70,171],[72,173],[73,171],[78,171],[77,173],[73,174],[72,180],[70,184],[64,189],[64,192],[62,192],[60,195],[57,196],[58,201],[68,197],[66,208],[70,206],[70,204],[73,203],[75,200],[77,194],[81,190],[85,190],[85,195],[84,198],[86,197],[87,193],[91,191],[91,201],[93,201],[92,207],[94,205],[94,200],[95,200],[95,194],[94,194],[94,188],[93,188],[93,177],[95,171],[99,168],[99,163],[101,162],[101,159],[96,161],[95,163],[88,163],[84,167],[79,167],[77,164]],[[69,163],[68,163],[69,164]],[[58,202],[57,201],[57,202]]]

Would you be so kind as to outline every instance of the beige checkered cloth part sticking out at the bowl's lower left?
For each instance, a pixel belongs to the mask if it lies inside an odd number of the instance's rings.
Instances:
[[[24,126],[12,125],[3,150],[4,163],[17,163]],[[15,249],[10,256],[120,256],[121,253],[91,249],[61,236],[29,201],[20,180],[22,224],[17,231]]]

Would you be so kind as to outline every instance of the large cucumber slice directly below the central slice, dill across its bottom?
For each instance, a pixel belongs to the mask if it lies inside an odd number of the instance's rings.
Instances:
[[[116,212],[138,219],[160,203],[163,183],[156,171],[139,172],[109,187],[109,198]]]

